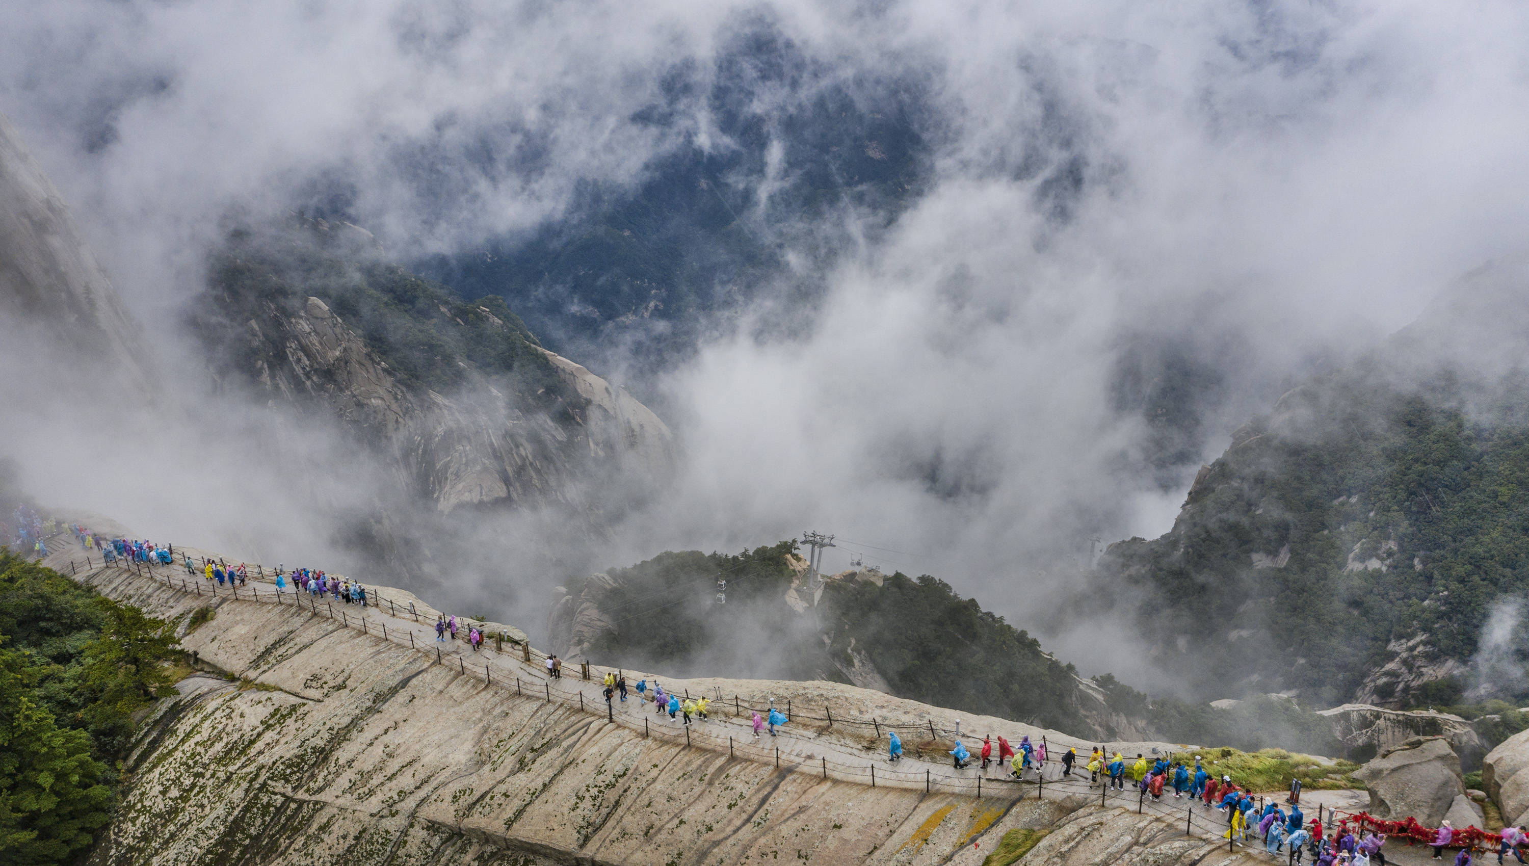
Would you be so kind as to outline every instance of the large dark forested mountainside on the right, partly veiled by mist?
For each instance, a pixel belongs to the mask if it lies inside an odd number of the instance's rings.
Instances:
[[[1171,534],[1113,546],[1099,583],[1145,591],[1138,627],[1206,698],[1257,676],[1339,702],[1413,635],[1427,658],[1469,659],[1491,604],[1529,589],[1529,398],[1518,379],[1462,393],[1396,386],[1378,361],[1292,392],[1234,436]],[[1283,568],[1252,566],[1284,549]]]

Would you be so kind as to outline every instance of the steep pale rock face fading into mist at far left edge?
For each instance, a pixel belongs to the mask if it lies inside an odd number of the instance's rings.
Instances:
[[[34,358],[63,350],[70,367],[87,367],[89,375],[110,373],[136,387],[148,381],[142,338],[112,282],[86,246],[63,196],[3,115],[0,335],[9,347],[21,347]]]

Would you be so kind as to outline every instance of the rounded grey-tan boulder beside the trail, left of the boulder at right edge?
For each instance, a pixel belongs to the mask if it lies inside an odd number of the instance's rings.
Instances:
[[[1410,739],[1361,767],[1355,777],[1370,789],[1370,814],[1413,816],[1425,826],[1437,826],[1465,794],[1460,759],[1445,737]]]

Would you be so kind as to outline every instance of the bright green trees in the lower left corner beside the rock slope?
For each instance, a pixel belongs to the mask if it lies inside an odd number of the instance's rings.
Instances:
[[[66,863],[106,825],[174,632],[0,548],[0,861]]]

